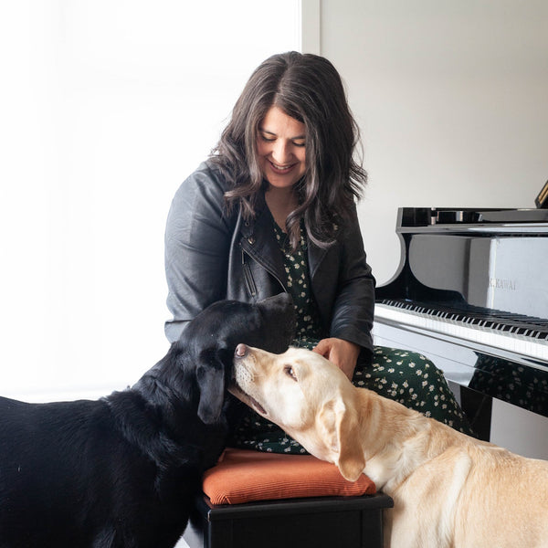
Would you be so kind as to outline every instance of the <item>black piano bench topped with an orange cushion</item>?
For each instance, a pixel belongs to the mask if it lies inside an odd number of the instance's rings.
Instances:
[[[376,548],[393,501],[311,455],[227,448],[208,469],[184,532],[190,548]]]

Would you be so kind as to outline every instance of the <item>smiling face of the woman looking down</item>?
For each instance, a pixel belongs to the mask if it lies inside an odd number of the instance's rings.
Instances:
[[[271,187],[289,188],[306,170],[304,124],[270,107],[258,126],[258,163]]]

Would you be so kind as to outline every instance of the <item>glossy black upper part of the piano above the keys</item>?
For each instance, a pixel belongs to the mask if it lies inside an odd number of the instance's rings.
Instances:
[[[377,300],[405,298],[548,319],[548,210],[398,210],[400,266]]]

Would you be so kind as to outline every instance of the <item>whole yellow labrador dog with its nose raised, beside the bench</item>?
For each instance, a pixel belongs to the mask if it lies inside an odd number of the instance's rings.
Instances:
[[[548,461],[458,433],[365,388],[320,354],[237,346],[230,391],[345,479],[394,499],[393,548],[548,547]]]

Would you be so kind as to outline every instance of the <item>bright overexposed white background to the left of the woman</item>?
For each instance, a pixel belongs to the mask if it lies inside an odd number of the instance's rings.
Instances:
[[[103,395],[165,353],[174,189],[299,21],[298,0],[2,3],[2,395]]]

